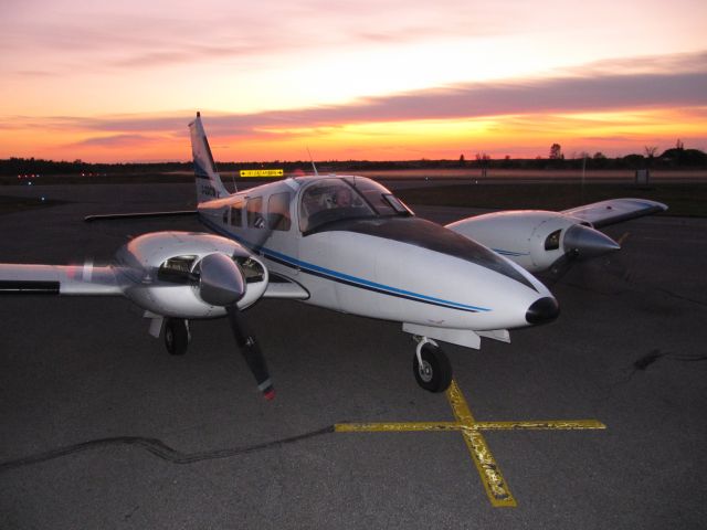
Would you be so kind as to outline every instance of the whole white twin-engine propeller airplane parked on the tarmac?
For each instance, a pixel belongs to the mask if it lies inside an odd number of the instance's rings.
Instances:
[[[508,330],[553,320],[557,300],[530,273],[615,251],[619,245],[593,226],[666,210],[618,199],[441,226],[362,177],[286,178],[230,194],[199,114],[189,128],[199,200],[193,213],[220,235],[140,235],[108,266],[0,265],[0,293],[125,296],[145,309],[151,335],[163,335],[173,354],[187,350],[190,319],[225,316],[267,399],[273,385],[242,314],[260,298],[402,322],[418,341],[418,383],[442,392],[452,368],[436,341],[478,349],[482,337],[509,342]],[[184,212],[104,218],[170,213]]]

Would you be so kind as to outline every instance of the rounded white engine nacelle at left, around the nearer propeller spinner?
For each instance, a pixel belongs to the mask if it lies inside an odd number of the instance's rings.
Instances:
[[[221,317],[224,307],[199,296],[199,264],[214,253],[229,256],[239,266],[245,283],[239,308],[263,296],[268,282],[265,265],[236,242],[205,233],[156,232],[134,239],[116,253],[118,282],[127,298],[156,315]]]

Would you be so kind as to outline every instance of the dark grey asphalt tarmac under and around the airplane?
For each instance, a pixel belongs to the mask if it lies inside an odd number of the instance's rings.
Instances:
[[[7,187],[72,201],[0,216],[0,261],[109,259],[196,220],[85,224],[193,206],[193,187]],[[450,222],[473,210],[416,208]],[[274,402],[224,320],[170,357],[119,298],[0,299],[0,528],[697,529],[707,526],[707,220],[610,227],[623,250],[572,268],[548,326],[447,346],[477,421],[598,420],[600,431],[483,433],[517,501],[489,502],[460,432],[338,433],[451,422],[412,375],[394,322],[263,300],[247,311]]]

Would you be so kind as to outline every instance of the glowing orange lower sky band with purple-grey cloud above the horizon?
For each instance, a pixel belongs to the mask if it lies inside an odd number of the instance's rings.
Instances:
[[[707,52],[592,64],[582,74],[359,98],[339,105],[224,114],[204,109],[222,160],[545,156],[641,152],[644,145],[707,147]],[[623,68],[625,70],[625,68]],[[192,110],[105,116],[7,116],[0,157],[88,161],[186,160]]]

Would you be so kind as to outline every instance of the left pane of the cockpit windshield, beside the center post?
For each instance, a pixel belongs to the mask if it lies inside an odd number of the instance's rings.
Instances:
[[[299,201],[299,230],[310,232],[342,219],[374,216],[358,190],[342,179],[324,179],[304,190]]]

